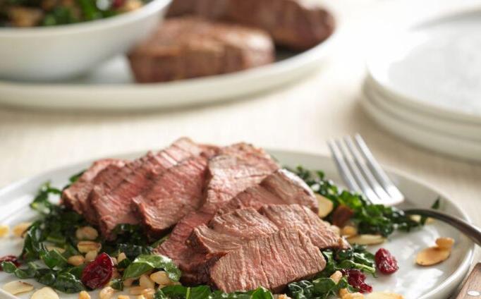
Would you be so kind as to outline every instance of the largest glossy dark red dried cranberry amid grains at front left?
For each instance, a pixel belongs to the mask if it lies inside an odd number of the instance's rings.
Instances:
[[[82,282],[89,288],[100,288],[110,281],[113,272],[114,263],[109,255],[102,253],[85,266],[82,271]]]

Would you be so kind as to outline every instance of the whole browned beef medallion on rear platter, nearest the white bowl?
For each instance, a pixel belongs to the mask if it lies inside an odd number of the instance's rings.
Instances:
[[[195,17],[170,18],[128,55],[140,83],[218,75],[274,61],[262,30]]]

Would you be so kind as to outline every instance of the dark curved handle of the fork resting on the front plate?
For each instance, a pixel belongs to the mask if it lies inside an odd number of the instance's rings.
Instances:
[[[455,228],[458,228],[459,231],[465,233],[465,235],[473,240],[474,243],[481,246],[481,229],[473,224],[459,219],[458,217],[439,212],[435,209],[405,209],[404,212],[410,215],[432,217],[434,219],[444,221],[447,224],[451,224],[451,226],[454,226]]]

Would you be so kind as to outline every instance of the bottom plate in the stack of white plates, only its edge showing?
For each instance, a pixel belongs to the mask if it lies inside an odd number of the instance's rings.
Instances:
[[[372,100],[376,97],[375,94],[372,94],[372,90],[365,89],[364,92],[365,97],[361,100],[361,104],[365,111],[380,126],[394,135],[434,152],[448,154],[457,158],[481,161],[480,141],[439,133],[436,130],[411,123],[408,119],[378,106]]]

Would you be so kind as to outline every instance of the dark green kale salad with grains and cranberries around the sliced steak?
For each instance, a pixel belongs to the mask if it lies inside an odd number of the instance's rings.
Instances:
[[[324,269],[310,279],[288,283],[280,294],[262,286],[247,292],[223,293],[208,285],[183,285],[176,264],[153,251],[169,238],[169,233],[150,241],[140,226],[122,224],[115,228],[115,240],[105,240],[82,215],[53,203],[62,189],[49,183],[39,188],[30,203],[38,217],[20,232],[22,251],[1,257],[0,270],[17,279],[35,279],[61,293],[79,293],[83,299],[90,298],[87,292],[93,290],[102,299],[117,298],[119,291],[138,299],[321,299],[369,293],[372,286],[365,282],[366,276],[389,275],[398,269],[389,251],[381,248],[370,252],[366,245],[382,243],[396,230],[419,228],[426,219],[413,219],[395,207],[374,205],[362,195],[341,190],[322,171],[303,167],[291,171],[315,193],[319,217],[334,224],[348,240],[358,242],[350,242],[351,247],[346,249],[322,250]],[[81,174],[72,176],[70,182],[75,183]]]

